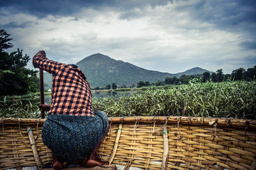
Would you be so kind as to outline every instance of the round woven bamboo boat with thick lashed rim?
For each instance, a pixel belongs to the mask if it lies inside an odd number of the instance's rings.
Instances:
[[[45,119],[0,122],[1,169],[52,163],[41,138]],[[124,169],[250,169],[255,161],[256,120],[112,117],[109,124],[98,153]]]

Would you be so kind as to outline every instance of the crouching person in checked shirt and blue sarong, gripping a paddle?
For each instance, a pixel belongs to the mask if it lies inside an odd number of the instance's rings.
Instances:
[[[86,76],[76,65],[47,59],[44,51],[33,57],[33,66],[52,74],[51,106],[42,129],[44,144],[52,150],[54,169],[63,162],[72,163],[87,157],[86,166],[106,165],[97,157],[97,149],[106,137],[108,117],[92,110],[92,92]]]

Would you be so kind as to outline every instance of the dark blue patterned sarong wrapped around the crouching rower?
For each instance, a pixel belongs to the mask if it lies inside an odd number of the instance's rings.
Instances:
[[[63,162],[87,157],[108,128],[106,113],[95,111],[94,114],[95,117],[49,115],[42,129],[44,144]]]

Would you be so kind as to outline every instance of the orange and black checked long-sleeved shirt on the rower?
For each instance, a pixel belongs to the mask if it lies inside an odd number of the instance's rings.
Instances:
[[[62,64],[45,57],[40,51],[33,66],[52,74],[52,102],[49,115],[94,116],[92,92],[86,76],[76,65]]]

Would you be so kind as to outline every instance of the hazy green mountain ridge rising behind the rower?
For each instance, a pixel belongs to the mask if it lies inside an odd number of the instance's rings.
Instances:
[[[202,74],[206,69],[195,67],[187,71],[171,74],[159,71],[151,71],[134,66],[129,62],[122,60],[115,60],[107,55],[95,53],[76,63],[78,67],[86,75],[86,80],[89,81],[92,87],[106,87],[108,84],[115,83],[118,86],[126,85],[129,87],[132,84],[137,84],[138,81],[149,81],[154,83],[156,81],[164,81],[166,77],[180,77],[182,74],[193,75]],[[208,71],[211,72],[211,71]],[[46,89],[51,89],[51,74],[45,73]]]

